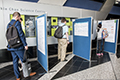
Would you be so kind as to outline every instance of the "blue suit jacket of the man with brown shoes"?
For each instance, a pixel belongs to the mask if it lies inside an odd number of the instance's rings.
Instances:
[[[15,22],[15,19],[12,19],[12,20],[10,21],[10,23],[7,25],[7,29],[9,28],[9,25],[13,25],[14,22]],[[19,37],[20,37],[23,45],[21,45],[21,46],[19,46],[19,47],[17,47],[17,48],[10,48],[10,46],[8,45],[8,50],[9,50],[9,51],[22,50],[22,49],[24,49],[24,46],[27,46],[26,38],[25,38],[24,33],[23,33],[23,31],[22,31],[21,23],[20,23],[19,21],[17,21],[17,22],[15,23],[15,27],[16,27],[17,30],[18,30],[18,34],[19,34]]]

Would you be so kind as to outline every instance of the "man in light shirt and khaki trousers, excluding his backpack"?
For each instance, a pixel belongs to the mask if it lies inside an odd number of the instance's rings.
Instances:
[[[66,19],[61,19],[61,24],[59,25],[63,28],[63,37],[62,39],[58,39],[58,60],[67,61],[66,57],[66,48],[67,44],[69,44],[69,35],[68,35],[68,26],[66,26]]]

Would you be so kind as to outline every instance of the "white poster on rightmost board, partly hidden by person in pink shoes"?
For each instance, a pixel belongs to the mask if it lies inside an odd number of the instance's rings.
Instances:
[[[116,20],[102,21],[102,27],[108,31],[108,37],[105,39],[106,42],[115,42],[115,30]]]

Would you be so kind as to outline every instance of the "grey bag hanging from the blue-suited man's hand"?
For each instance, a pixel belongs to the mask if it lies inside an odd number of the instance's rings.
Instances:
[[[29,63],[27,59],[26,50],[23,57],[22,69],[23,69],[23,76],[28,77],[31,73],[31,63]]]

